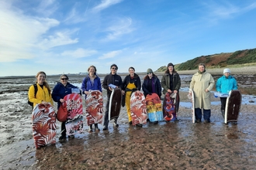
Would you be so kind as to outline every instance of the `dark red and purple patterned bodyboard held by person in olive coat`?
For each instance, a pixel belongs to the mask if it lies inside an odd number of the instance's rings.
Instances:
[[[165,121],[174,121],[176,119],[177,100],[179,100],[177,93],[165,93],[163,102],[163,116]]]

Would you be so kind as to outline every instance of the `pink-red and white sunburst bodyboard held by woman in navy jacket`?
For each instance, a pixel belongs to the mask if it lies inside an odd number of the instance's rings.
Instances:
[[[78,93],[67,94],[64,97],[67,104],[67,135],[81,133],[83,128],[83,107],[82,99]]]

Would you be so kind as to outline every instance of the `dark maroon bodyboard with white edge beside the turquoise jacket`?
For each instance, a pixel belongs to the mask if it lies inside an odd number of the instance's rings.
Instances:
[[[242,102],[242,95],[240,90],[231,90],[229,97],[227,97],[225,108],[225,124],[228,122],[237,122],[240,106]]]

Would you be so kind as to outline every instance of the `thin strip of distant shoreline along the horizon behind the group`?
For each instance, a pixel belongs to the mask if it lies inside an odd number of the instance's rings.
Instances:
[[[208,73],[211,73],[213,75],[220,75],[220,74],[223,74],[223,70],[225,68],[215,68],[215,69],[207,69],[206,68],[206,71]],[[231,74],[242,74],[242,75],[256,75],[256,66],[246,66],[246,67],[238,67],[238,68],[230,68],[230,71],[231,71]],[[197,72],[197,70],[178,70],[177,71],[178,74],[180,75],[187,75],[187,74],[194,74]],[[154,72],[156,75],[161,75],[161,74],[164,74],[164,72]],[[99,73],[98,75],[99,76],[105,76],[106,74],[108,73]],[[129,73],[118,73],[119,75],[128,75]],[[145,72],[140,72],[140,73],[137,73],[137,74],[144,74],[146,75]],[[81,76],[81,77],[85,77],[85,74],[75,74],[75,73],[71,73],[71,74],[67,74],[67,75],[71,75],[71,76]],[[49,75],[50,77],[54,77],[54,76],[61,76],[61,74],[57,74],[57,75]],[[35,77],[35,76],[0,76],[0,79],[1,78],[10,78],[10,79],[14,79],[14,78],[20,78],[20,77],[24,77],[24,78],[29,78],[29,77]]]

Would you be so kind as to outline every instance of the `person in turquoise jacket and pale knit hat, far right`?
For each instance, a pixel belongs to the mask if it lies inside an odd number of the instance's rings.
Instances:
[[[237,80],[234,76],[231,76],[230,69],[223,70],[223,76],[221,76],[216,83],[216,91],[219,93],[230,93],[230,90],[237,90]],[[227,97],[220,97],[220,111],[223,116],[225,117],[225,107],[226,107]]]

